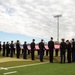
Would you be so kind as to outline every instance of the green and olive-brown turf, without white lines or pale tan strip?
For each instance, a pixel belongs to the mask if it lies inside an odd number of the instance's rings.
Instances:
[[[2,59],[3,57],[0,57]],[[28,59],[30,56],[28,56]],[[13,58],[12,58],[13,59]],[[20,59],[23,59],[22,56]],[[27,59],[27,60],[28,60]],[[44,57],[45,61],[49,61],[48,56]],[[3,73],[17,71],[15,74],[10,75],[75,75],[75,63],[65,63],[60,64],[60,57],[54,57],[55,63],[46,63],[34,66],[26,66],[20,68],[13,68],[8,70],[0,70],[0,75],[4,75]],[[34,61],[10,61],[0,63],[0,67],[12,67],[19,65],[28,65],[39,62],[39,56],[36,56],[36,60]]]

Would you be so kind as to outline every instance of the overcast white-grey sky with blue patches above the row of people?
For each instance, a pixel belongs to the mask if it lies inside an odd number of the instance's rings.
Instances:
[[[53,16],[58,14],[62,14],[60,39],[75,37],[75,0],[0,0],[0,40],[3,35],[8,35],[5,40],[17,39],[14,35],[57,40],[57,19]]]

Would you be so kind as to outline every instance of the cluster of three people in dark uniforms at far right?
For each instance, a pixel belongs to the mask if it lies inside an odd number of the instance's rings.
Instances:
[[[68,63],[75,62],[75,41],[74,38],[72,39],[72,42],[69,40],[62,39],[62,42],[60,43],[60,63],[66,62],[66,50],[67,50],[67,60]]]

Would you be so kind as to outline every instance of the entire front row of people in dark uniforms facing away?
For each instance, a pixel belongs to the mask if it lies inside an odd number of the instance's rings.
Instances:
[[[41,39],[41,42],[39,42],[38,44],[39,46],[39,55],[40,55],[40,61],[43,62],[43,56],[44,56],[44,50],[45,50],[45,45],[43,42],[43,39]],[[32,40],[31,44],[31,59],[34,60],[35,59],[35,39]],[[50,41],[48,42],[48,48],[49,48],[49,61],[51,63],[53,63],[53,53],[54,53],[54,41],[53,41],[53,37],[50,38]],[[5,44],[5,42],[3,42],[3,52],[2,52],[2,56],[9,57],[13,57],[14,54],[14,43],[13,41],[11,41],[11,44],[9,45],[9,43],[7,42]],[[16,43],[16,57],[20,58],[20,43],[19,40],[17,40]],[[23,59],[27,59],[27,42],[25,41],[23,44]],[[69,40],[67,40],[65,42],[64,39],[62,39],[62,42],[60,43],[60,63],[66,61],[66,50],[67,50],[67,60],[68,63],[75,62],[75,41],[74,39],[72,39],[72,42],[70,43]],[[0,52],[1,52],[1,42],[0,42]],[[71,55],[72,54],[72,55]],[[72,56],[72,59],[71,59]],[[64,60],[63,60],[64,59]]]

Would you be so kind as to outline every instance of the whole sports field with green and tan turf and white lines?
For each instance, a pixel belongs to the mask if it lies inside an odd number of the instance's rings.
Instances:
[[[60,56],[54,57],[54,63],[49,63],[48,56],[44,56],[44,62],[37,55],[34,61],[30,55],[26,60],[22,56],[20,59],[0,56],[0,75],[75,75],[75,63],[59,62]]]

